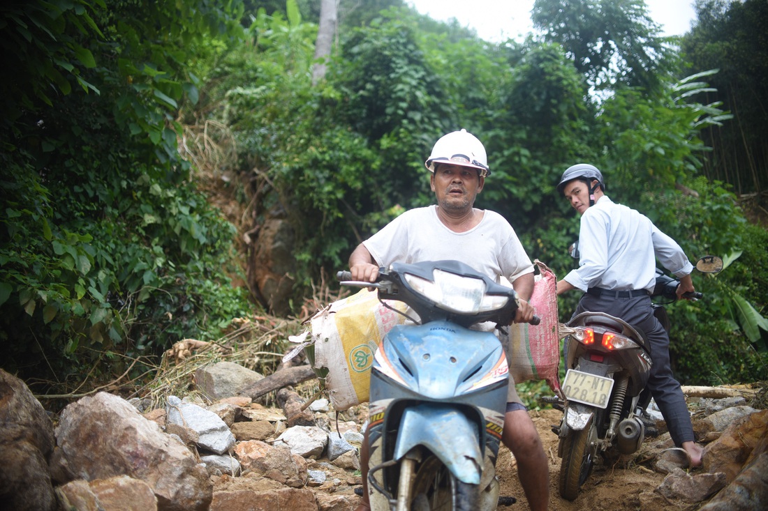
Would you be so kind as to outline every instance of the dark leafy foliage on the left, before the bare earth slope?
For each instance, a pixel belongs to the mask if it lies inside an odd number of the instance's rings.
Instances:
[[[16,44],[6,54],[25,64],[21,80],[0,81],[9,371],[63,382],[99,353],[157,353],[247,311],[243,292],[227,285],[233,229],[191,186],[174,123],[179,104],[197,101],[184,45],[237,36],[234,5],[3,8],[4,33],[23,36],[3,38]],[[50,62],[68,74],[51,73]]]

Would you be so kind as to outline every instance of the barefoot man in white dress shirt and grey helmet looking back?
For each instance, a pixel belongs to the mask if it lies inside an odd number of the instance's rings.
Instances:
[[[664,415],[677,447],[701,465],[702,448],[695,443],[690,414],[680,383],[672,374],[669,335],[654,316],[650,292],[656,282],[656,259],[680,279],[677,298],[694,291],[694,266],[674,239],[634,209],[615,204],[604,194],[603,175],[588,163],[568,167],[558,184],[581,215],[579,267],[558,282],[558,295],[571,289],[584,292],[574,315],[605,312],[644,331],[653,365],[647,387]]]

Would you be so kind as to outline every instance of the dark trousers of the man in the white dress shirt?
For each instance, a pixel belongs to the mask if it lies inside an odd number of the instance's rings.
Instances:
[[[647,388],[667,422],[675,445],[680,447],[683,442],[694,441],[694,428],[690,423],[685,397],[680,383],[672,374],[669,334],[654,316],[650,297],[614,298],[584,294],[574,315],[585,311],[610,314],[644,332],[650,344],[650,358],[654,362],[650,366]]]

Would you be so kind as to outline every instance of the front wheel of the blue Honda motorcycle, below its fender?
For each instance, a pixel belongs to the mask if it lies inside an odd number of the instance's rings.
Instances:
[[[479,486],[462,483],[435,456],[419,464],[411,486],[410,511],[477,511]]]

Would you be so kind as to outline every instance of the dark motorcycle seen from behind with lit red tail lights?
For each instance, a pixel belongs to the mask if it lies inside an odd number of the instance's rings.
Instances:
[[[571,255],[578,259],[578,248],[571,247]],[[700,272],[717,273],[723,269],[723,260],[706,256],[696,267]],[[677,300],[678,285],[680,281],[657,269],[651,297],[658,298],[654,315],[667,331],[670,321],[664,304]],[[698,299],[702,294],[686,297]],[[653,361],[640,331],[603,312],[574,316],[561,335],[564,333],[568,334],[563,347],[565,400],[550,402],[563,410],[560,425],[553,428],[560,437],[559,491],[564,499],[573,500],[598,453],[632,454],[643,443],[642,414],[650,401],[650,393],[643,391]]]

